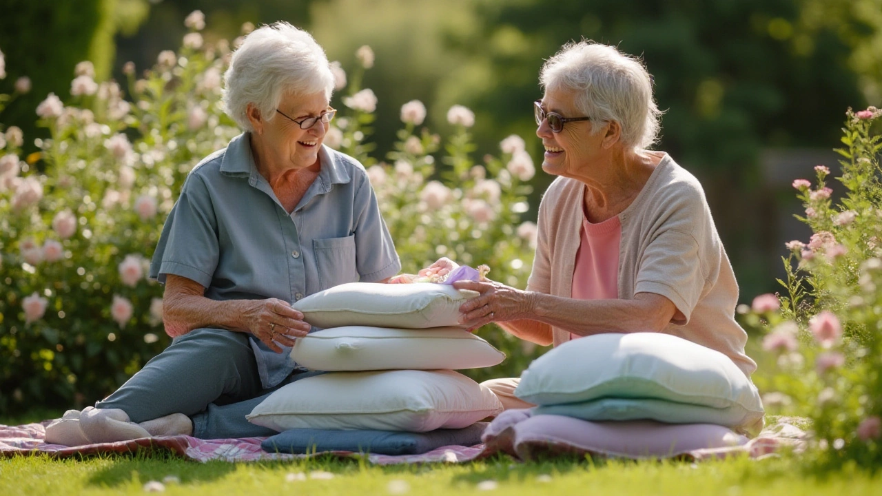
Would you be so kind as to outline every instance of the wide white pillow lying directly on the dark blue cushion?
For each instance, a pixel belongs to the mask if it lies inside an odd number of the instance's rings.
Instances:
[[[429,432],[461,429],[502,410],[490,389],[459,372],[331,372],[280,387],[247,418],[280,432]]]

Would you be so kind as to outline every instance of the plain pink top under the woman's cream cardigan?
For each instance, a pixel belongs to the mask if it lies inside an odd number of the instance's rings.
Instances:
[[[572,273],[572,297],[604,300],[618,297],[618,252],[622,222],[618,216],[592,224],[582,217],[581,243]],[[570,334],[570,339],[581,337]]]

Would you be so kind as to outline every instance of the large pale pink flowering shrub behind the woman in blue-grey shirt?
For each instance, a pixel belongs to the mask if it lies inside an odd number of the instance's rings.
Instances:
[[[147,265],[187,173],[239,133],[221,108],[228,41],[206,44],[201,12],[185,26],[183,47],[161,52],[143,78],[123,67],[128,98],[78,64],[67,103],[49,94],[35,109],[51,135],[35,140],[40,152],[22,156],[19,127],[0,124],[0,412],[94,402],[170,341]],[[523,139],[506,138],[499,156],[476,163],[470,110],[451,109],[455,132],[442,139],[419,127],[422,102],[408,101],[399,141],[376,155],[377,97],[360,87],[374,54],[365,46],[357,59],[348,78],[333,64],[346,91],[325,144],[369,168],[405,272],[446,256],[523,287],[535,244],[535,226],[519,222],[534,175]],[[501,330],[485,334],[509,359],[476,379],[519,374],[532,359],[532,347]]]

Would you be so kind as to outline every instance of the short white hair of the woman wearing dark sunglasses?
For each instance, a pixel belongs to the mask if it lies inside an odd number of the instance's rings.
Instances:
[[[593,126],[620,124],[625,147],[648,148],[658,139],[662,111],[653,99],[652,78],[637,57],[594,41],[569,42],[542,65],[539,80],[546,91],[575,93],[576,106]]]

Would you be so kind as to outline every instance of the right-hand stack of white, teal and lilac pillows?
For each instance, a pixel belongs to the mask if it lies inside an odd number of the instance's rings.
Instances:
[[[491,448],[658,458],[747,442],[763,426],[757,388],[729,357],[661,333],[596,334],[534,360],[515,390],[538,405],[484,433]]]

